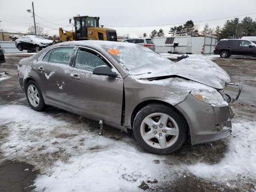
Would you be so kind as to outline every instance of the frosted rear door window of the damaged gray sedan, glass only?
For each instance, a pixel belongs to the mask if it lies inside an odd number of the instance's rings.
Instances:
[[[60,63],[60,64],[70,64],[72,55],[75,49],[73,47],[62,47],[52,49],[50,54],[49,63]]]

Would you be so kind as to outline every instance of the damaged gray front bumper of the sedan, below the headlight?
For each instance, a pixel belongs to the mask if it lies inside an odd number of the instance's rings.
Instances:
[[[192,144],[220,140],[232,132],[230,106],[211,106],[189,94],[175,107],[188,122]]]

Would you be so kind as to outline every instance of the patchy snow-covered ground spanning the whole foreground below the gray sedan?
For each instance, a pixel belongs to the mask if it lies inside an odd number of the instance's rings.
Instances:
[[[80,117],[69,114],[71,120],[78,118],[74,126],[59,116],[22,105],[0,106],[6,134],[0,141],[2,155],[39,169],[43,175],[35,181],[38,191],[138,191],[142,181],[156,179],[160,184],[165,176],[180,178],[184,172],[228,187],[238,176],[256,178],[256,122],[234,119],[228,152],[220,162],[170,165],[164,164],[164,156],[140,151],[130,137],[98,136],[90,130],[98,129],[97,123],[79,122]]]

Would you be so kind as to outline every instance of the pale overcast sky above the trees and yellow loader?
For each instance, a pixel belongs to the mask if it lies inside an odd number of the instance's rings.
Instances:
[[[26,32],[33,24],[33,18],[26,10],[31,9],[31,0],[1,0],[0,28],[8,32]],[[34,0],[35,14],[41,18],[36,22],[50,28],[63,27],[72,30],[68,18],[76,14],[99,16],[100,25],[104,26],[146,26],[184,23],[187,20],[202,21],[224,18],[256,12],[256,0]],[[256,14],[248,15],[254,20]],[[242,19],[245,16],[240,16]],[[232,18],[230,18],[232,19]],[[199,26],[208,23],[210,26],[222,26],[227,19],[196,22]],[[14,23],[18,22],[18,23]],[[131,37],[138,37],[152,30],[168,30],[174,25],[150,27],[110,27],[122,36],[129,33]],[[58,34],[58,30],[44,27],[48,34]],[[202,27],[201,27],[202,28]]]

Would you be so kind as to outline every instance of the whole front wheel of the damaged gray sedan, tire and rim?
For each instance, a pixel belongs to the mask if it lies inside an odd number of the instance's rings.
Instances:
[[[187,129],[184,118],[176,110],[153,103],[144,106],[136,114],[133,133],[138,144],[145,150],[170,154],[184,144]]]

